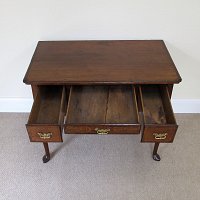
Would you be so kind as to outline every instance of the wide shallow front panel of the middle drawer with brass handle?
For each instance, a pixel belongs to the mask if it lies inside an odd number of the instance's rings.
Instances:
[[[140,125],[65,125],[66,134],[139,134]]]

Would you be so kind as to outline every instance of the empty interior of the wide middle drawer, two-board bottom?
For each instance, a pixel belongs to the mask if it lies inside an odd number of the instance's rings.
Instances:
[[[71,87],[66,123],[137,124],[138,110],[134,87]]]

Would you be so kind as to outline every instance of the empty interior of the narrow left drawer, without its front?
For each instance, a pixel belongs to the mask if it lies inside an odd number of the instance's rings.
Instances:
[[[39,86],[28,124],[58,124],[63,91],[63,86]]]

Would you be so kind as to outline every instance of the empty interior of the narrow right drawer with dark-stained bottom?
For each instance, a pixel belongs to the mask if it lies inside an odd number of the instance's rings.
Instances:
[[[166,86],[140,86],[145,124],[176,124],[169,92]]]

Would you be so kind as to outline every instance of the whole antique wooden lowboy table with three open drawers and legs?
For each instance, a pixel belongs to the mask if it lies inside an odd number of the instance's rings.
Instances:
[[[161,40],[41,41],[24,77],[34,103],[27,131],[42,142],[67,134],[141,134],[173,142],[177,124],[170,98],[181,77]]]

